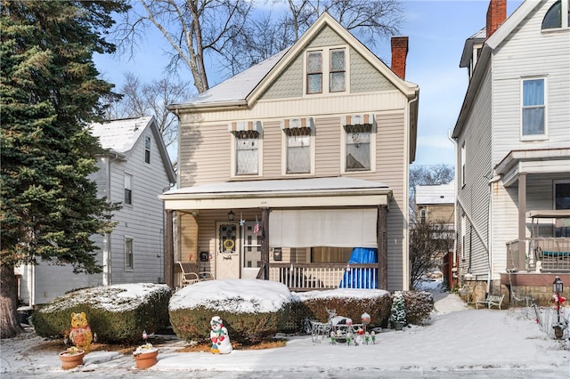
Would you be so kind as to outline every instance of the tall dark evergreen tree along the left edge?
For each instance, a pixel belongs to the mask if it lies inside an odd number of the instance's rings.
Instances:
[[[40,259],[100,272],[90,239],[112,227],[114,206],[97,198],[95,155],[86,125],[102,120],[94,52],[113,52],[104,34],[120,1],[5,1],[0,8],[2,174],[0,328],[20,331],[14,267]]]

